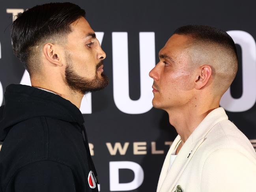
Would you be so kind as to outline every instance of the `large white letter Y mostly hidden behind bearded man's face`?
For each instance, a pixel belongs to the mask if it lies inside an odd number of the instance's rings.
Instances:
[[[99,43],[102,43],[104,32],[95,32]],[[92,114],[92,93],[87,93],[82,99],[80,106],[80,111],[82,114]]]

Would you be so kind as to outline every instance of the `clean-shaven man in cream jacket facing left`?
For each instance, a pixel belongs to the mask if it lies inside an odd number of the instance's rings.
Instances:
[[[256,153],[228,120],[220,98],[237,73],[234,41],[210,26],[178,28],[150,71],[153,106],[178,136],[164,160],[157,192],[256,191]]]

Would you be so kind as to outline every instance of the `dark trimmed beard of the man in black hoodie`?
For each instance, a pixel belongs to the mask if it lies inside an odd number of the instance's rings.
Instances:
[[[65,82],[69,86],[69,88],[73,91],[78,91],[82,94],[87,94],[92,91],[99,91],[104,89],[108,85],[108,77],[101,73],[101,78],[98,76],[97,69],[103,62],[99,62],[95,67],[95,77],[90,80],[88,78],[79,76],[72,67],[72,59],[67,54],[66,55],[67,66],[65,68]]]

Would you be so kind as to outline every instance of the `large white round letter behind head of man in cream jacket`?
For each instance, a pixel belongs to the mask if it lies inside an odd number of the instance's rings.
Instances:
[[[252,108],[256,102],[256,43],[252,35],[245,31],[227,33],[242,48],[243,94],[239,99],[234,99],[228,88],[220,105],[230,112],[243,112]]]

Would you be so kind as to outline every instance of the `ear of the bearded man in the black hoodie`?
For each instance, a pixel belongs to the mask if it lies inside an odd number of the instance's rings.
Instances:
[[[52,43],[47,43],[43,46],[43,54],[45,55],[45,58],[54,65],[63,65],[60,52],[60,47]]]

